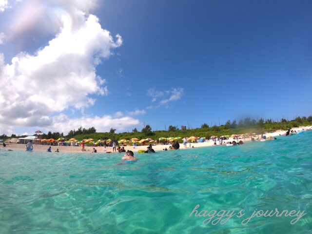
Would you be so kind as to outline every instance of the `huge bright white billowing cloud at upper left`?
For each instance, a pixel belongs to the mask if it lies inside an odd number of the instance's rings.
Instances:
[[[95,7],[94,0],[30,2],[46,4],[47,11],[53,4],[62,5],[63,10],[55,15],[59,33],[34,55],[21,52],[9,64],[0,53],[0,83],[5,84],[0,86],[0,124],[6,126],[49,126],[52,115],[69,107],[94,105],[96,99],[90,95],[108,94],[96,66],[122,44],[119,35],[114,40],[96,16],[86,14]],[[111,118],[104,119],[109,122]]]

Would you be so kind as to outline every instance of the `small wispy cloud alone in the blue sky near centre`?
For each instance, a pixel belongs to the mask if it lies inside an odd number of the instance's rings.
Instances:
[[[156,91],[154,88],[148,89],[146,95],[152,98],[152,102],[155,102],[157,99],[162,98],[157,106],[148,106],[147,109],[157,108],[162,105],[166,105],[169,102],[176,101],[182,98],[184,93],[183,88],[172,88],[171,90],[166,91]]]

